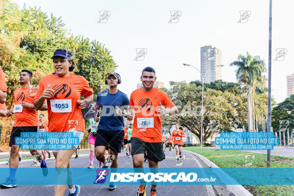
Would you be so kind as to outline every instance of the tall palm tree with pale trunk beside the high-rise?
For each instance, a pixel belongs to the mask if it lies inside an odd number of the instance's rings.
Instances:
[[[262,73],[266,72],[264,60],[260,56],[247,56],[239,54],[237,61],[230,63],[230,66],[236,66],[236,76],[240,84],[247,87],[247,107],[248,107],[248,130],[254,129],[254,93],[256,86],[263,83]]]

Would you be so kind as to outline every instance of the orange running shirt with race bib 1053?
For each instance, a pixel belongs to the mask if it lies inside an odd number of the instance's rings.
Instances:
[[[76,102],[80,100],[81,95],[88,97],[93,94],[87,80],[83,76],[73,73],[65,77],[57,77],[54,73],[51,73],[40,80],[35,99],[40,98],[48,84],[54,90],[53,96],[47,99],[48,131],[67,132],[77,130],[85,132],[83,115]]]

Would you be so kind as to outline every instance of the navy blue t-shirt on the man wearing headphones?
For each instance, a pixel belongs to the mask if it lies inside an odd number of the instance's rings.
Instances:
[[[123,117],[116,114],[115,107],[118,106],[122,111],[127,108],[129,105],[127,95],[120,90],[115,94],[110,94],[107,89],[99,93],[96,101],[101,106],[98,129],[106,131],[123,130]]]

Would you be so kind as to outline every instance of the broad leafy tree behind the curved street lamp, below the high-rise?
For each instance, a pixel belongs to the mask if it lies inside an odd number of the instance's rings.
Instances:
[[[200,140],[202,85],[196,82],[170,82],[172,89],[167,94],[179,108],[179,114],[164,116],[163,125],[179,123],[187,127]],[[238,85],[238,84],[237,84]],[[204,92],[203,141],[215,132],[232,131],[245,125],[245,98],[229,91],[206,88]]]

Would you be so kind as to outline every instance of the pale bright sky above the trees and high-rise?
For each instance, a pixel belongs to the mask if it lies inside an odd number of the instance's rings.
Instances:
[[[119,89],[130,96],[140,83],[142,70],[153,67],[157,80],[169,88],[170,81],[199,80],[200,47],[211,45],[222,52],[222,80],[236,82],[235,67],[229,64],[249,52],[269,62],[269,0],[12,0],[19,8],[41,7],[47,15],[61,17],[74,35],[97,40],[111,51],[122,76]],[[294,1],[272,2],[271,93],[277,102],[287,97],[287,75],[294,73]],[[108,11],[108,20],[100,19]],[[179,11],[171,20],[171,11]],[[248,20],[240,20],[248,11]],[[105,23],[104,23],[105,22]],[[136,49],[146,49],[143,60]],[[284,57],[276,49],[286,49]],[[285,50],[285,51],[286,51]],[[268,73],[265,73],[268,76]]]

